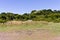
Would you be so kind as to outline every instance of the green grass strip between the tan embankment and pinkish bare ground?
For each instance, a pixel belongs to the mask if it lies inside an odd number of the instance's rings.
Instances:
[[[31,30],[31,29],[47,29],[54,33],[60,33],[60,23],[41,23],[41,22],[32,22],[24,23],[20,25],[5,25],[0,24],[0,31],[12,31],[12,30]]]

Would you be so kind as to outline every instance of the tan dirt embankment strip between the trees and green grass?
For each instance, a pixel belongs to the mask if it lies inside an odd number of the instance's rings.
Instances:
[[[25,24],[25,23],[42,23],[42,24],[48,24],[48,22],[46,21],[32,21],[32,20],[28,20],[28,21],[8,21],[5,24],[7,25],[20,25],[20,24]]]

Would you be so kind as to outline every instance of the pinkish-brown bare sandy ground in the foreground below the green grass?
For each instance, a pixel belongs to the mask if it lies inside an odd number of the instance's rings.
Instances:
[[[0,32],[0,40],[60,40],[60,36],[52,34],[49,30],[20,30]]]

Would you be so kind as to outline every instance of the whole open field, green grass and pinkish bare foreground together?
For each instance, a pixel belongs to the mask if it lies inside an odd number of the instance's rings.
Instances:
[[[0,36],[0,40],[60,40],[60,23],[32,21],[0,24]]]

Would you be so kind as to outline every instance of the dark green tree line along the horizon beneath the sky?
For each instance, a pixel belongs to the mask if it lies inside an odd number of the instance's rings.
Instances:
[[[24,13],[22,15],[10,12],[0,13],[0,23],[5,23],[7,21],[13,21],[13,20],[60,22],[60,10],[51,10],[51,9],[32,10],[30,13]]]

